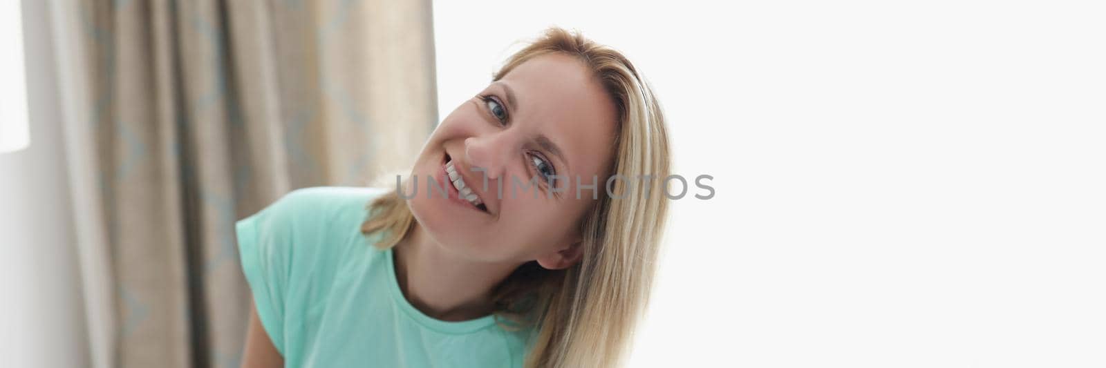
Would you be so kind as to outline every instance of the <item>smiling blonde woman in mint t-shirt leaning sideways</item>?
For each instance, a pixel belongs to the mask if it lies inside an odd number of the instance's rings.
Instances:
[[[668,175],[660,106],[633,64],[549,29],[395,188],[300,189],[239,221],[243,366],[619,366]]]

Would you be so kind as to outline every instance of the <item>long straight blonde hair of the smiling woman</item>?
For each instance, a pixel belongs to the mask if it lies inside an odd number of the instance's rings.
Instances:
[[[648,306],[656,259],[667,221],[664,192],[669,175],[668,134],[651,87],[618,51],[580,32],[550,28],[511,55],[492,75],[498,81],[535,56],[561,53],[584,62],[615,103],[616,157],[609,175],[615,197],[599,196],[581,221],[583,257],[564,270],[529,262],[494,290],[500,326],[536,327],[526,367],[616,367]],[[383,232],[375,246],[394,246],[414,225],[395,190],[368,203],[374,214],[362,232]]]

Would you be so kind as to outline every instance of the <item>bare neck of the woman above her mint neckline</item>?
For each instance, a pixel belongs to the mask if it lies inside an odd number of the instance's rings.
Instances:
[[[416,222],[393,248],[399,290],[415,308],[441,320],[468,320],[493,311],[492,288],[522,263],[476,262],[435,243]]]

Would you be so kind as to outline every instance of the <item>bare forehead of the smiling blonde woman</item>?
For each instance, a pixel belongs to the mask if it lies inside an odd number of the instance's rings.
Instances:
[[[614,150],[617,113],[583,61],[565,54],[536,56],[501,82],[518,99],[513,124],[549,136],[564,151],[572,175],[589,177],[605,168]],[[581,178],[581,182],[592,181]]]

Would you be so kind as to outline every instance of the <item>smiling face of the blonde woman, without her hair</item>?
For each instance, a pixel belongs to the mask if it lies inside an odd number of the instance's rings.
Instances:
[[[525,61],[434,130],[411,172],[411,212],[437,243],[473,261],[567,267],[581,255],[581,218],[606,193],[615,115],[582,61]]]

